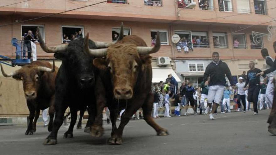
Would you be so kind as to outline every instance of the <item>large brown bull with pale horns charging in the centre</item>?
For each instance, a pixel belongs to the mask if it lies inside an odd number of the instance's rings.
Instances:
[[[122,30],[121,26],[121,34]],[[89,54],[104,57],[93,60],[93,64],[101,70],[101,78],[96,82],[97,116],[91,127],[92,136],[99,137],[104,133],[101,112],[106,105],[113,126],[109,139],[112,144],[122,144],[123,129],[140,107],[145,121],[156,130],[157,135],[168,135],[167,130],[157,125],[151,117],[153,95],[150,93],[152,68],[149,54],[159,49],[159,33],[154,47],[146,47],[145,41],[135,35],[124,37],[108,49],[89,49],[86,44]],[[117,129],[116,116],[123,108],[126,110]]]

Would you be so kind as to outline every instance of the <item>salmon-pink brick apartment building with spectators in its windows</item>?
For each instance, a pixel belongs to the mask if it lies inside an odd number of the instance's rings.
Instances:
[[[76,33],[84,37],[88,32],[92,40],[112,42],[118,36],[120,23],[124,22],[124,35],[138,35],[148,46],[154,45],[155,35],[157,31],[160,32],[162,47],[151,55],[153,82],[165,80],[167,74],[172,73],[179,82],[189,79],[197,86],[214,51],[220,53],[220,58],[226,61],[236,77],[242,71],[249,70],[250,60],[256,62],[256,67],[264,69],[265,62],[260,50],[267,48],[272,56],[275,55],[272,44],[276,40],[273,32],[276,1],[206,1],[29,0],[20,3],[22,1],[2,0],[0,55],[14,58],[15,48],[11,39],[20,40],[28,30],[35,33],[37,27],[40,27],[45,43],[53,46],[70,42],[77,37]],[[268,32],[269,25],[272,25],[272,32]],[[256,37],[255,32],[264,35]],[[265,35],[269,33],[272,34],[271,39]],[[185,53],[181,48],[178,51],[177,44],[172,42],[174,34],[186,40],[193,50],[188,49],[188,53]],[[52,59],[53,54],[43,52],[37,42],[34,41],[37,59]],[[162,65],[164,62],[168,65]],[[18,67],[5,66],[5,70],[15,69]],[[7,80],[3,77],[0,79]],[[13,89],[11,85],[5,84],[3,87]],[[20,91],[21,87],[18,87]]]

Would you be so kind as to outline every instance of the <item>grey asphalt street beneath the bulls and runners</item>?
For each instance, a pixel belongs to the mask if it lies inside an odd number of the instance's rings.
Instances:
[[[34,135],[24,135],[26,126],[0,127],[1,155],[275,155],[276,136],[266,123],[269,110],[215,115],[178,116],[155,119],[169,136],[156,136],[144,120],[132,120],[125,127],[122,145],[110,145],[111,124],[104,122],[105,134],[95,138],[74,128],[74,138],[63,139],[68,126],[62,126],[58,144],[43,146],[47,128],[38,125]],[[119,121],[117,122],[119,123]],[[83,126],[84,128],[84,126]]]

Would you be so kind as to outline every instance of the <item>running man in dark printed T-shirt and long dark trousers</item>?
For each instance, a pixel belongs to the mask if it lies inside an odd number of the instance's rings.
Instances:
[[[249,62],[249,68],[250,70],[247,71],[247,78],[246,78],[246,83],[244,85],[244,90],[246,90],[246,86],[249,83],[247,100],[248,102],[253,102],[254,115],[257,115],[258,114],[258,109],[257,109],[258,96],[259,96],[261,87],[260,87],[260,77],[256,75],[258,73],[261,73],[262,71],[258,68],[255,68],[254,61]]]

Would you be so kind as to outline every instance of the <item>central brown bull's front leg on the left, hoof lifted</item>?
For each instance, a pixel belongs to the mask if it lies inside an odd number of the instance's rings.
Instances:
[[[102,84],[101,78],[97,78],[96,86],[95,86],[95,96],[96,99],[96,107],[97,107],[97,115],[95,122],[91,126],[91,136],[93,137],[101,137],[104,134],[103,128],[103,110],[106,106],[106,98],[105,98],[105,89]]]

